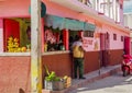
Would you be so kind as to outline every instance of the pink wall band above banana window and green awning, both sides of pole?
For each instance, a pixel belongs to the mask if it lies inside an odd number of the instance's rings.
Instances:
[[[88,21],[94,23],[94,20],[89,19],[88,16],[82,15],[81,13],[75,12],[73,10],[66,9],[59,4],[52,3],[50,0],[43,0],[43,2],[46,4],[47,14],[54,14],[64,18],[73,18],[78,19],[80,21]],[[30,0],[21,0],[21,3],[20,0],[2,1],[0,3],[0,18],[30,16],[29,14],[30,4],[31,4]]]

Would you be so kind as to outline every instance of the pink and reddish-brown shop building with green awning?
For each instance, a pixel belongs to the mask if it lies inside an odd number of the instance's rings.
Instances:
[[[85,73],[119,65],[123,53],[130,54],[130,31],[121,25],[122,20],[110,19],[106,12],[100,13],[78,0],[42,1],[46,7],[46,15],[42,18],[42,62],[57,75],[73,77],[70,38],[76,35],[82,36],[87,50]],[[30,4],[30,0],[0,1],[0,93],[31,91]],[[122,9],[120,13],[122,19]],[[11,36],[19,40],[10,42]],[[58,47],[59,43],[65,48]],[[43,79],[44,74],[43,69]]]

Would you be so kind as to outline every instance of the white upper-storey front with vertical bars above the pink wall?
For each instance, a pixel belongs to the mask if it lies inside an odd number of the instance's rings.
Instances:
[[[116,21],[116,23],[123,24],[123,0],[79,0],[82,3],[94,8],[99,14]]]

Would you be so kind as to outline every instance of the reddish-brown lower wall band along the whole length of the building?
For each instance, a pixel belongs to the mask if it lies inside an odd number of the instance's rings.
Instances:
[[[109,65],[121,62],[122,50],[110,50]],[[73,75],[73,59],[67,54],[44,55],[43,79],[45,77],[44,66],[57,75]],[[0,93],[31,93],[31,58],[26,57],[0,57]],[[99,53],[85,54],[85,73],[99,69]],[[43,83],[44,84],[44,83]],[[23,91],[23,92],[20,92]]]

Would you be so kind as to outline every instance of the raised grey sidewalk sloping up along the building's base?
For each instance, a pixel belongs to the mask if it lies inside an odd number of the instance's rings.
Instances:
[[[72,80],[72,86],[69,86],[68,89],[62,90],[62,91],[48,91],[48,90],[43,90],[42,93],[69,93],[72,90],[75,90],[79,86],[86,85],[88,83],[91,83],[96,80],[100,80],[103,79],[106,77],[109,77],[118,71],[120,71],[121,69],[120,65],[117,66],[109,66],[106,68],[101,68],[100,70],[94,71],[94,72],[89,72],[88,74],[85,74],[85,80],[79,80],[79,79],[73,79]]]

